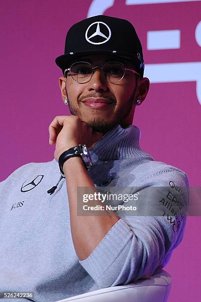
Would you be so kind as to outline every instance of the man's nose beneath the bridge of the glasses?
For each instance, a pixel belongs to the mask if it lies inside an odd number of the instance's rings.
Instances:
[[[107,86],[107,79],[102,73],[100,68],[96,68],[93,70],[93,75],[88,82],[88,90],[92,91],[95,90],[97,92],[103,92],[108,89]]]

